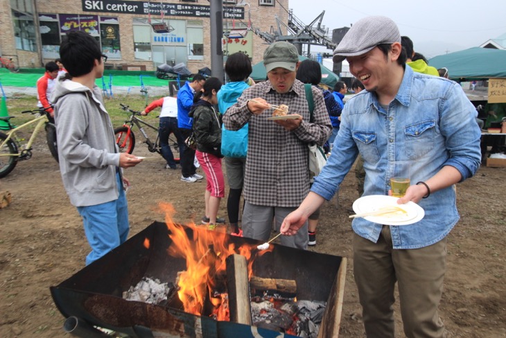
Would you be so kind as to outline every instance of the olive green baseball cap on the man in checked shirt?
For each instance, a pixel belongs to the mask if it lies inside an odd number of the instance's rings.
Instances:
[[[299,52],[290,42],[274,42],[263,52],[263,65],[267,72],[277,67],[296,71],[297,62],[299,62]]]

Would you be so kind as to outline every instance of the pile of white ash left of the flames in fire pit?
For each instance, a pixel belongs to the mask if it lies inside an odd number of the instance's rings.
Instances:
[[[143,277],[135,287],[130,287],[128,291],[123,292],[123,298],[127,301],[159,304],[167,300],[169,291],[171,291],[171,287],[168,286],[168,283]]]

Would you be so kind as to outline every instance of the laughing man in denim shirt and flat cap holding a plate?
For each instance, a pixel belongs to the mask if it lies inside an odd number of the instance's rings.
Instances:
[[[296,233],[338,192],[359,152],[365,160],[364,196],[390,194],[393,162],[411,161],[412,185],[397,203],[419,203],[425,217],[408,226],[354,219],[354,276],[367,337],[394,337],[396,282],[406,337],[444,337],[437,308],[446,236],[459,219],[455,183],[480,166],[476,109],[457,83],[405,66],[399,29],[386,17],[354,24],[334,51],[334,62],[344,58],[367,92],[344,106],[335,139],[340,151],[332,153],[311,192],[288,214],[281,233]]]

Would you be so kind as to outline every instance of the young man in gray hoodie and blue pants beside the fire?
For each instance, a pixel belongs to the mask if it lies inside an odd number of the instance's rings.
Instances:
[[[91,246],[90,264],[116,248],[128,237],[125,187],[130,183],[121,168],[142,160],[119,153],[114,129],[95,85],[104,71],[101,47],[91,35],[67,34],[60,46],[67,69],[51,96],[55,104],[58,157],[62,181],[85,226]]]

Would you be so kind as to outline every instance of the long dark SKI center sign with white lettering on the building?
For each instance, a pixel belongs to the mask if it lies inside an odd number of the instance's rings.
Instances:
[[[82,0],[84,12],[169,15],[172,17],[211,17],[211,7],[150,1]],[[244,8],[224,7],[224,17],[244,19]]]

